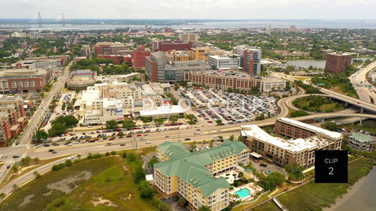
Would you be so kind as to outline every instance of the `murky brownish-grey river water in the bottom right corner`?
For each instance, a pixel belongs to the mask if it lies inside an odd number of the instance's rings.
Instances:
[[[376,167],[365,178],[358,191],[333,211],[376,210]]]

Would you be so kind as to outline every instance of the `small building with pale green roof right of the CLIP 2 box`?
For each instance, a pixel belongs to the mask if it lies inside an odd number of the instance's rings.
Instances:
[[[374,150],[375,139],[368,134],[354,133],[348,136],[347,144],[357,151],[370,152]]]

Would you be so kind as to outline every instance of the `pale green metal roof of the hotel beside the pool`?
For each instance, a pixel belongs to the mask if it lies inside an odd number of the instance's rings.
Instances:
[[[210,196],[218,188],[229,188],[230,185],[224,177],[213,177],[212,172],[203,166],[248,149],[241,141],[229,139],[217,148],[196,153],[188,153],[181,142],[166,141],[158,148],[162,153],[166,153],[170,160],[158,162],[154,164],[154,168],[159,169],[167,177],[177,175],[192,186],[200,188],[205,197]]]

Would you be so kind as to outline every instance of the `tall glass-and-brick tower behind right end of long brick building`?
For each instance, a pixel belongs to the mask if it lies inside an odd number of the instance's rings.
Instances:
[[[260,75],[260,49],[253,49],[250,46],[239,45],[234,47],[233,52],[241,57],[241,67],[243,68],[243,71],[248,72],[250,75]]]

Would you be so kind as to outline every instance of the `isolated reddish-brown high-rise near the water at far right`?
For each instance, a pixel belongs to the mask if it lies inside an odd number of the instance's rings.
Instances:
[[[345,72],[351,66],[353,56],[348,53],[328,53],[325,71],[340,73]]]

